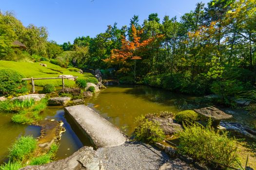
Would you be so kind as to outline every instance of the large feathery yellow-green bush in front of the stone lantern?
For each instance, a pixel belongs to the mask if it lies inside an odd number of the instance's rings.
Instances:
[[[227,133],[219,135],[209,125],[207,128],[200,125],[185,127],[179,134],[178,152],[202,163],[213,161],[234,166],[238,158],[236,151],[236,140],[228,138]]]

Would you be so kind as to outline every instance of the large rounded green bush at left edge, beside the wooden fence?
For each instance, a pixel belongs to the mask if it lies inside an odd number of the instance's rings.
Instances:
[[[0,68],[0,94],[14,95],[27,92],[27,82],[21,80],[24,77],[15,70]]]

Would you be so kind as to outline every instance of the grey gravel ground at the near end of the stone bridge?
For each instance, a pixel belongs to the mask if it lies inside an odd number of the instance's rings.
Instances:
[[[170,161],[165,152],[141,142],[126,142],[115,147],[99,148],[97,153],[105,170],[158,170],[164,163]],[[182,165],[178,166],[180,163]],[[184,168],[184,166],[186,164],[180,161],[173,168]]]

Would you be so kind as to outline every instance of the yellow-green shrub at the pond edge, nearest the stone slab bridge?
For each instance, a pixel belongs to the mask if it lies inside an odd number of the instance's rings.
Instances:
[[[134,132],[134,138],[136,140],[154,143],[162,141],[161,137],[165,137],[163,130],[157,123],[150,121],[143,116],[136,118],[135,123],[138,124]],[[153,133],[157,135],[154,135]]]

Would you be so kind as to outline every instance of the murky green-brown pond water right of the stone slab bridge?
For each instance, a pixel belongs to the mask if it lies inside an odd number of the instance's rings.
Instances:
[[[147,113],[170,111],[177,113],[178,102],[193,100],[194,97],[171,93],[163,89],[141,85],[108,86],[100,93],[85,101],[85,104],[96,110],[130,136],[134,131],[136,117]]]

